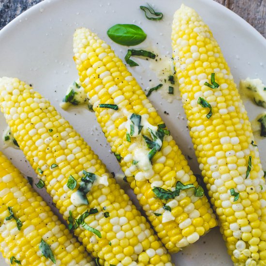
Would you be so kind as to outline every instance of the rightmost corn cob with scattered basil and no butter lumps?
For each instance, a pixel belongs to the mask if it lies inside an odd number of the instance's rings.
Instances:
[[[190,135],[228,252],[236,265],[265,265],[264,172],[230,69],[208,26],[184,5],[174,15],[172,46]],[[211,105],[211,117],[199,97]]]

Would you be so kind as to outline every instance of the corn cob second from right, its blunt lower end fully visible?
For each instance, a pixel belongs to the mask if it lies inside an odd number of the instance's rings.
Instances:
[[[110,46],[85,28],[74,33],[74,60],[103,133],[166,248],[177,252],[198,240],[217,225],[215,215],[207,198],[195,196],[194,189],[179,190],[176,196],[173,192],[171,201],[156,198],[156,187],[174,190],[177,181],[195,188],[198,184],[175,141],[166,135],[169,132],[157,130],[157,125],[165,125],[136,80]],[[101,107],[108,104],[115,110]],[[156,150],[152,163],[140,132],[147,141],[165,132],[163,139],[154,139],[152,145],[161,150]]]

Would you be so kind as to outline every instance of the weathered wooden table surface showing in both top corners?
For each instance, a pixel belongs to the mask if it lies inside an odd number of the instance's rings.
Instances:
[[[0,29],[41,0],[0,0]],[[215,0],[248,21],[266,37],[266,0]],[[152,0],[150,0],[152,2]]]

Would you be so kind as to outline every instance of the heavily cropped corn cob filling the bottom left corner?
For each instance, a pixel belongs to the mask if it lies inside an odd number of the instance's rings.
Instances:
[[[10,207],[15,218],[6,220]],[[14,257],[14,265],[18,265],[15,260],[22,266],[54,265],[39,249],[42,239],[50,246],[56,265],[95,265],[85,248],[0,152],[0,251],[6,263],[9,265]]]

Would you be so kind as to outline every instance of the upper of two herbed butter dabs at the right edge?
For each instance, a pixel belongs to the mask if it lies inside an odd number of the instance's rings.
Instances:
[[[250,98],[258,106],[266,108],[266,86],[259,78],[242,79],[239,88],[244,98]]]

